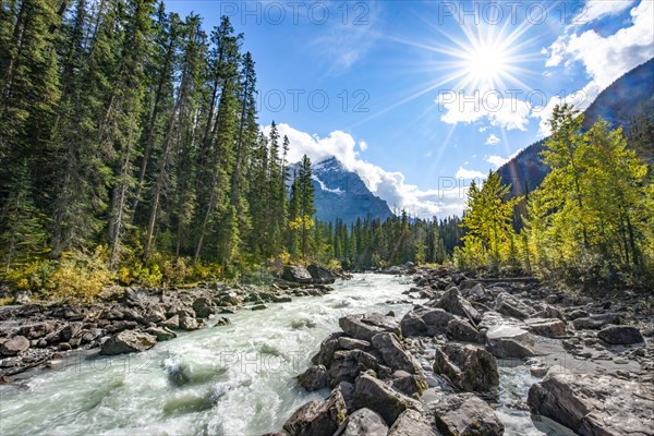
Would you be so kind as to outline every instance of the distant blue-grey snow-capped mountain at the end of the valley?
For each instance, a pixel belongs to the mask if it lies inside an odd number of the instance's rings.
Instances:
[[[296,165],[291,166],[291,174]],[[335,222],[338,218],[346,223],[356,218],[392,217],[388,204],[374,195],[354,171],[348,171],[336,158],[312,165],[315,187],[316,216],[322,221]]]

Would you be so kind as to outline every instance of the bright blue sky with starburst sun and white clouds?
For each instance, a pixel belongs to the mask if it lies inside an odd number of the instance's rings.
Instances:
[[[654,2],[168,1],[220,15],[256,61],[259,123],[336,155],[392,208],[460,214],[470,178],[654,57]],[[463,98],[462,98],[463,97]]]

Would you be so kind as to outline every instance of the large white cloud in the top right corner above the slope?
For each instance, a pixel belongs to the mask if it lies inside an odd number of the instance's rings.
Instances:
[[[602,3],[602,4],[600,4]],[[618,7],[626,9],[629,2],[618,2],[615,7],[604,3],[613,1],[592,1],[589,11],[595,17],[617,13]],[[591,12],[589,12],[590,14]],[[615,34],[603,37],[595,31],[581,35],[560,36],[547,52],[546,66],[556,66],[564,60],[567,63],[581,62],[597,85],[604,89],[629,70],[654,57],[654,2],[641,0],[631,10],[631,25]]]

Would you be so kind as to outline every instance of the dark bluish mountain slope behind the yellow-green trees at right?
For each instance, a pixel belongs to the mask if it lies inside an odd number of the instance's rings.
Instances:
[[[604,89],[585,110],[583,128],[589,129],[600,118],[614,128],[623,126],[629,132],[631,119],[654,112],[654,59],[631,70]],[[540,153],[545,147],[541,140],[498,169],[505,183],[511,183],[517,195],[533,191],[545,179],[549,168],[543,164]]]

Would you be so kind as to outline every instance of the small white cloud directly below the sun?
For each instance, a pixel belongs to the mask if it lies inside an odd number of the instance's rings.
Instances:
[[[477,90],[473,95],[441,94],[436,102],[439,110],[445,111],[440,120],[448,124],[487,120],[491,125],[506,130],[526,130],[531,111],[528,101],[507,98],[491,89]]]

